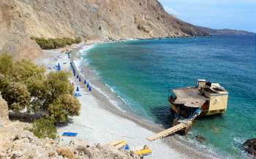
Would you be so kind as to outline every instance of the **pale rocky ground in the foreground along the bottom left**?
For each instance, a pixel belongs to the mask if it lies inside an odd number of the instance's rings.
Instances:
[[[38,139],[30,131],[23,131],[27,126],[10,122],[0,127],[0,158],[139,158],[132,152],[117,150],[108,144],[91,147],[86,141],[75,139],[69,145],[60,145],[53,139]]]

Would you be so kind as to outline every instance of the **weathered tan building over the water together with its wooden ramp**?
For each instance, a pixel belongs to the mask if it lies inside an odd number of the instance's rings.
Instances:
[[[161,139],[181,131],[187,134],[198,116],[222,114],[227,110],[228,93],[219,83],[198,80],[192,88],[178,88],[169,97],[170,109],[180,118],[172,128],[148,137],[149,141]]]

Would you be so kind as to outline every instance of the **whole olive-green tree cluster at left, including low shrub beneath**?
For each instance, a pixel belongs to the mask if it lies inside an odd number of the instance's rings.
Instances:
[[[0,92],[9,109],[40,114],[44,119],[34,123],[32,131],[39,137],[43,133],[53,137],[52,125],[66,123],[69,116],[79,115],[80,103],[72,96],[74,88],[68,72],[52,71],[48,75],[45,72],[44,67],[31,61],[14,62],[10,55],[0,55]]]

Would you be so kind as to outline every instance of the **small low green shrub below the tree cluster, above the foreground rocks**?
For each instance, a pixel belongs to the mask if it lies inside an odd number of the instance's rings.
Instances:
[[[29,131],[34,133],[39,139],[46,137],[56,139],[57,136],[54,120],[50,117],[42,117],[39,120],[36,120]]]

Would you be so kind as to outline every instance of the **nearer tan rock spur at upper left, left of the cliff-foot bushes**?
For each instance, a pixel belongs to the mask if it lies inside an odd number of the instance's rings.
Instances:
[[[12,53],[15,59],[33,59],[42,51],[26,34],[21,16],[17,1],[0,1],[0,53]]]

